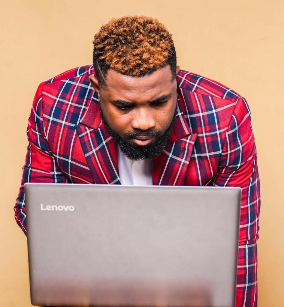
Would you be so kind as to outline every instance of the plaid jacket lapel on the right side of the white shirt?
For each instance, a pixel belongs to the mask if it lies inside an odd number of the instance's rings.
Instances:
[[[183,185],[197,134],[184,116],[178,93],[177,115],[173,131],[163,153],[153,161],[153,185]]]

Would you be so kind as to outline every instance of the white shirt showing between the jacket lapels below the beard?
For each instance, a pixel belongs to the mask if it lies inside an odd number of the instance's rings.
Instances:
[[[116,144],[120,183],[122,185],[153,185],[152,159],[130,160]]]

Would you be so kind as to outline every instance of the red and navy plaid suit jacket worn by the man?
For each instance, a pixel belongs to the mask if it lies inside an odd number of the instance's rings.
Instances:
[[[25,233],[25,182],[120,184],[115,141],[101,121],[90,74],[93,65],[74,68],[37,88],[14,207]],[[260,193],[250,109],[216,81],[180,70],[177,82],[177,119],[153,161],[153,185],[242,188],[236,306],[256,306]]]

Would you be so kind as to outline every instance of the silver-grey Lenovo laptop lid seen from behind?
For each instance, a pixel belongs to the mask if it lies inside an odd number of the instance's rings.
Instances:
[[[233,307],[240,188],[25,184],[31,302]]]

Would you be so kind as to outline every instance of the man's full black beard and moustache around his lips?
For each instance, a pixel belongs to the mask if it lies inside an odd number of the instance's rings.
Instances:
[[[143,160],[143,159],[152,159],[154,157],[159,156],[165,149],[168,138],[173,130],[174,123],[176,121],[176,114],[177,110],[175,111],[175,114],[172,118],[172,122],[170,123],[170,126],[165,131],[164,134],[161,134],[160,131],[152,130],[152,131],[143,131],[143,130],[136,130],[134,132],[128,132],[124,134],[124,138],[122,138],[120,135],[118,135],[115,131],[113,131],[110,126],[108,125],[105,116],[103,115],[103,112],[101,110],[101,119],[108,131],[108,133],[114,138],[114,140],[117,142],[117,144],[120,147],[120,150],[125,154],[128,159],[131,160]],[[136,145],[132,144],[128,141],[129,138],[138,137],[138,136],[149,136],[153,137],[156,136],[157,139],[153,144],[149,145]]]

